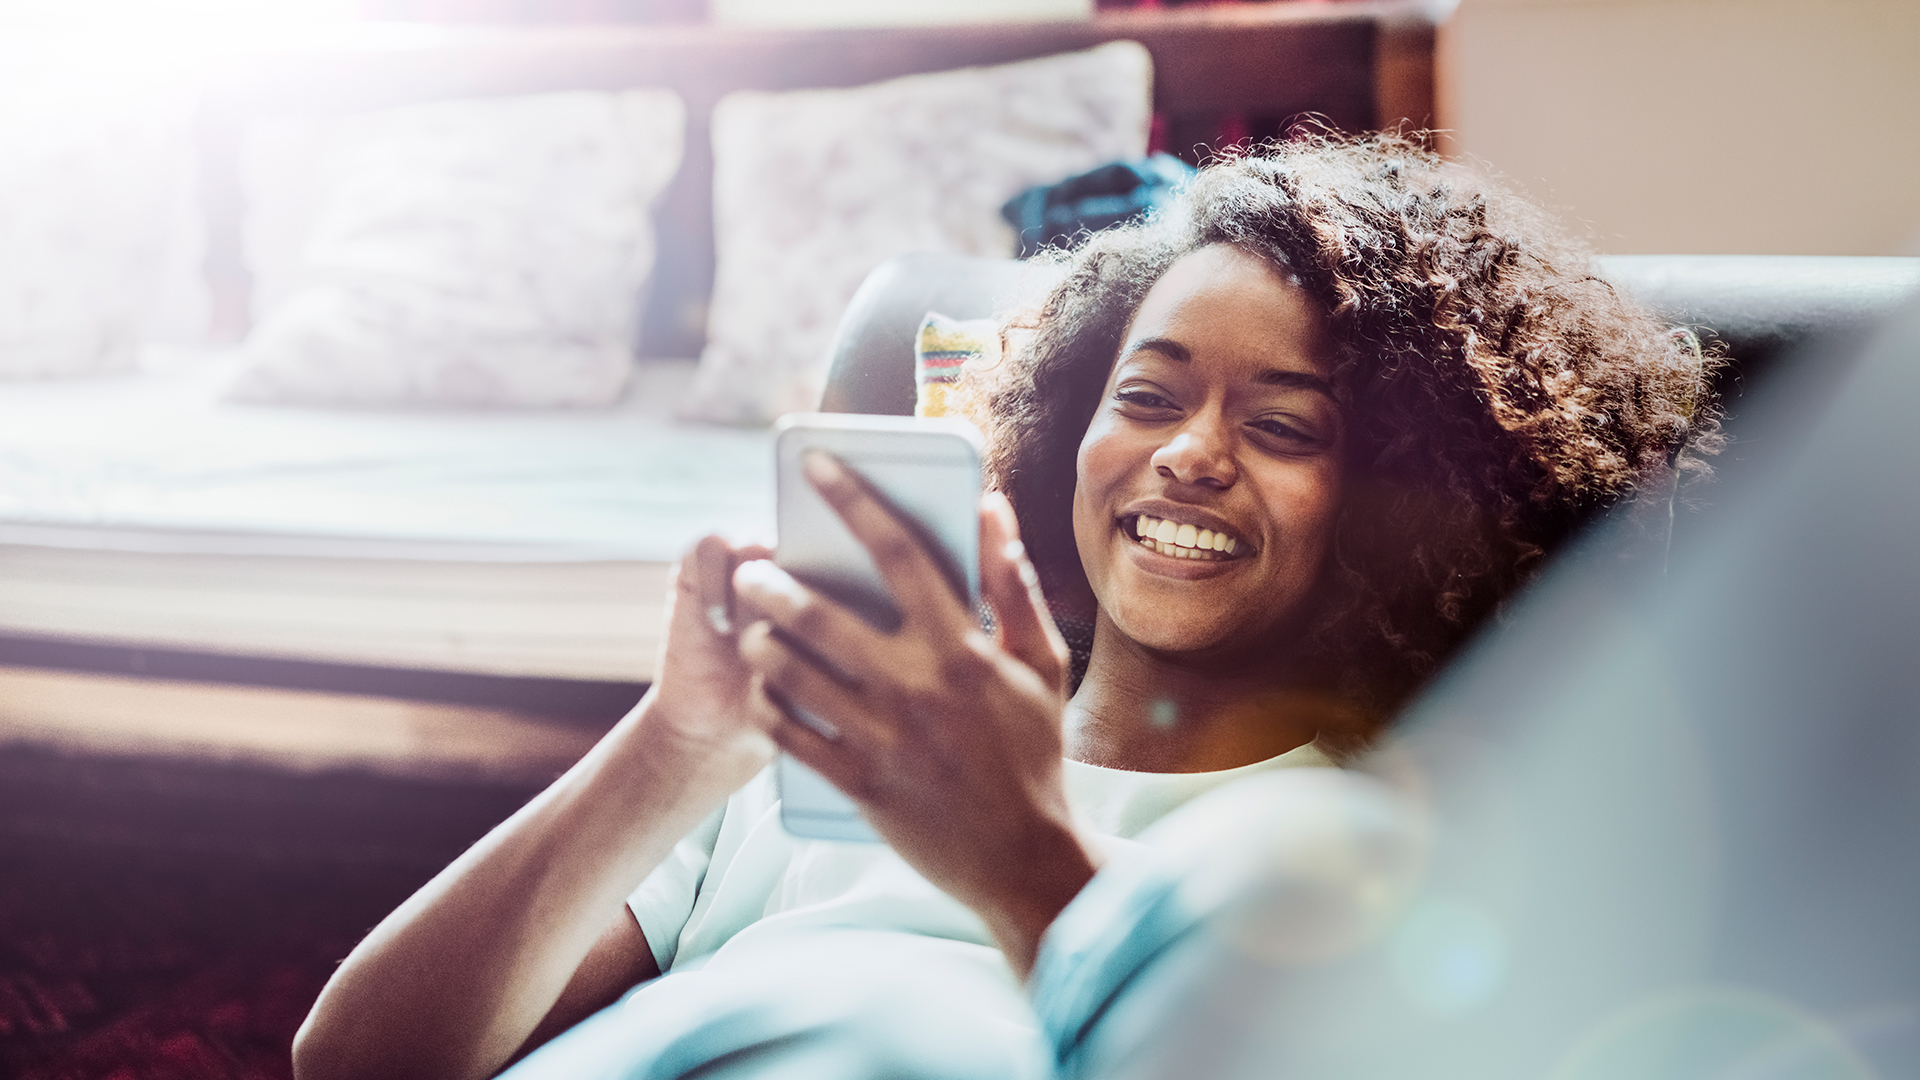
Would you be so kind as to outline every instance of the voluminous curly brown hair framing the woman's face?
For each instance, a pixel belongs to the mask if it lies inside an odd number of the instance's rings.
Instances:
[[[1718,448],[1715,359],[1532,206],[1398,135],[1275,142],[1056,252],[1064,281],[983,388],[989,471],[1056,611],[1091,611],[1075,457],[1121,340],[1210,244],[1286,269],[1327,313],[1348,496],[1309,640],[1365,715],[1390,715],[1596,511],[1665,513]]]

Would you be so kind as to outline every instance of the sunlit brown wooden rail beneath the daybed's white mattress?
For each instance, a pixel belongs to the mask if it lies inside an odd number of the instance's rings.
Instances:
[[[0,667],[0,746],[540,784],[601,730],[505,709]]]

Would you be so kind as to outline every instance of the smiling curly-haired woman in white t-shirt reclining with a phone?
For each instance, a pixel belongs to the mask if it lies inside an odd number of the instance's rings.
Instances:
[[[1114,836],[1365,744],[1580,521],[1665,505],[1715,438],[1690,338],[1388,136],[1206,169],[1075,252],[1031,327],[985,396],[995,630],[810,459],[904,625],[701,542],[653,690],[348,957],[301,1076],[486,1076],[662,970],[526,1068],[1043,1070],[1018,976]],[[1043,582],[1092,626],[1071,698]],[[776,748],[889,847],[787,838]]]

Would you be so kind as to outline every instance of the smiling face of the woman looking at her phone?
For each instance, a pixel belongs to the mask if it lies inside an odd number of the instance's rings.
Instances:
[[[1260,256],[1200,248],[1154,284],[1077,457],[1100,632],[1225,657],[1302,615],[1340,507],[1329,356],[1315,302]]]

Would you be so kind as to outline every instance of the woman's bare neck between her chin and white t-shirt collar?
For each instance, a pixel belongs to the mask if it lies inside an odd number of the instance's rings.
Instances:
[[[1311,742],[1334,707],[1288,667],[1154,653],[1102,613],[1087,676],[1068,703],[1068,757],[1135,773],[1212,773],[1286,753]]]

